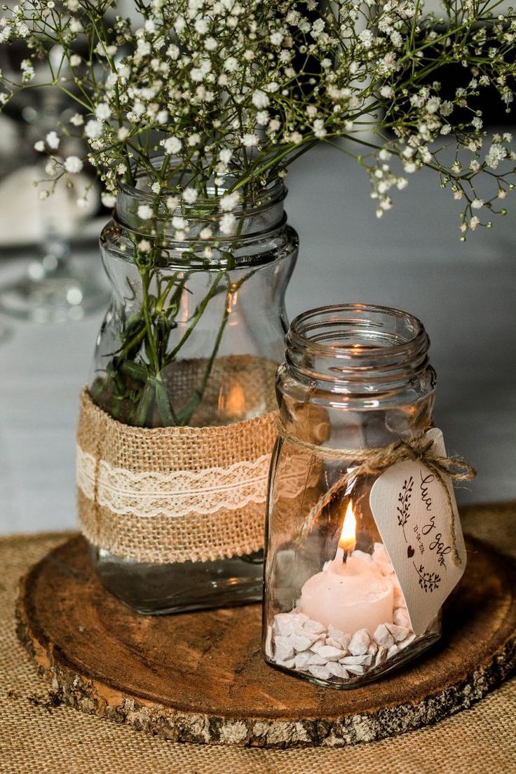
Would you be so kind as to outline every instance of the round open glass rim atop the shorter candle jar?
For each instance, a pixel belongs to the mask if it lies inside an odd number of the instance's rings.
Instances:
[[[354,314],[365,313],[370,317],[388,315],[393,320],[402,320],[410,336],[398,341],[397,343],[381,344],[374,341],[370,347],[361,344],[335,344],[325,343],[318,339],[310,337],[310,331],[324,327],[337,327],[339,324],[352,324],[354,322],[362,324],[364,329],[369,330],[371,334],[380,333],[381,324],[374,323],[373,320],[367,320],[367,317],[354,317]],[[324,334],[321,334],[323,337]],[[369,361],[371,355],[374,358],[382,356],[391,356],[411,352],[419,348],[427,349],[429,346],[429,337],[425,331],[421,320],[415,315],[403,310],[392,307],[384,307],[378,304],[367,303],[340,303],[302,312],[292,320],[287,337],[287,345],[290,348],[302,348],[314,355],[328,358],[339,358],[353,361]]]

